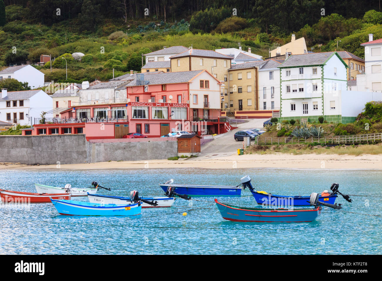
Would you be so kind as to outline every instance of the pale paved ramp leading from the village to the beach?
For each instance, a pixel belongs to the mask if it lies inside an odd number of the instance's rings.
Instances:
[[[202,145],[199,157],[191,159],[210,159],[237,153],[238,148],[243,148],[243,142],[235,141],[233,135],[240,130],[262,128],[265,120],[267,119],[250,119],[249,122],[239,124],[237,129],[216,136],[215,140]]]

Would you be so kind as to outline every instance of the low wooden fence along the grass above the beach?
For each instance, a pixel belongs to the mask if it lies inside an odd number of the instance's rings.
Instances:
[[[354,145],[359,143],[378,143],[382,141],[382,133],[365,135],[346,135],[346,136],[309,136],[309,137],[283,137],[273,138],[258,136],[255,139],[256,145],[276,145],[285,143],[320,143],[325,145]]]

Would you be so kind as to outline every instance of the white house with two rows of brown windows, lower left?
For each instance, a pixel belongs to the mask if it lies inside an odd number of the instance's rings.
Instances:
[[[0,120],[20,125],[34,124],[42,112],[52,110],[52,97],[42,90],[8,92],[2,89]],[[51,114],[45,117],[52,117]]]

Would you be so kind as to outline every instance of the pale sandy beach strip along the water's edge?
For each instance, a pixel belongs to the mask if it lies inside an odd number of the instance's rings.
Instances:
[[[286,169],[382,169],[381,155],[361,156],[337,154],[245,154],[217,158],[185,158],[178,161],[111,161],[84,164],[24,165],[19,163],[0,164],[0,169],[157,169],[157,168],[286,168]]]

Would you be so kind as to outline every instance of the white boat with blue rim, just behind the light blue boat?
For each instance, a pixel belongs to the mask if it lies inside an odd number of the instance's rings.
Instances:
[[[129,197],[108,196],[99,194],[88,194],[90,203],[98,204],[115,204],[115,205],[129,205],[134,204],[134,200]],[[155,208],[155,207],[171,207],[175,202],[174,197],[142,197],[139,198],[142,208]],[[150,204],[148,203],[150,202]]]

